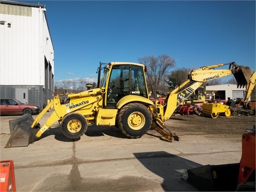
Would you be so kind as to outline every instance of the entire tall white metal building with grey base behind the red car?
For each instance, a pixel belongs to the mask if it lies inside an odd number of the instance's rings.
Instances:
[[[43,108],[54,92],[54,50],[44,5],[0,1],[0,97]]]

